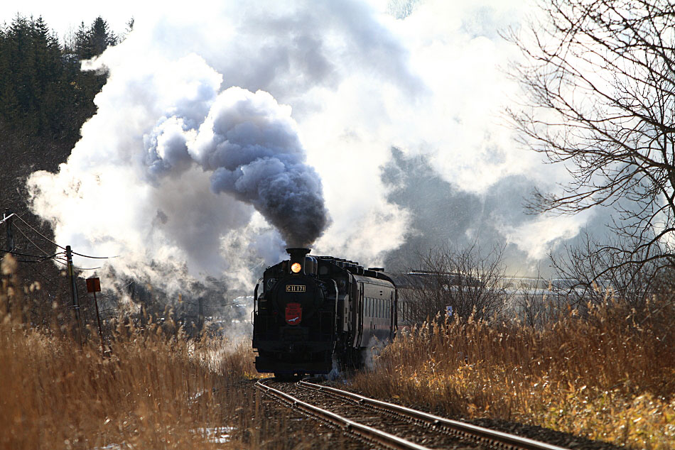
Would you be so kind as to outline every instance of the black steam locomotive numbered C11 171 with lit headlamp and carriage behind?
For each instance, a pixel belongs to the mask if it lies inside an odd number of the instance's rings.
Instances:
[[[255,289],[253,348],[258,372],[279,377],[329,373],[335,360],[358,368],[377,341],[403,324],[394,275],[349,260],[288,248]]]

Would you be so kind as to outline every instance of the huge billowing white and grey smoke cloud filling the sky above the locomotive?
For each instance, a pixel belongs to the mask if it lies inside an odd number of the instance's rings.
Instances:
[[[117,273],[249,287],[285,244],[377,265],[415,232],[382,180],[393,147],[478,195],[510,175],[555,179],[499,119],[516,90],[500,68],[514,49],[497,28],[527,5],[136,8],[126,40],[83,65],[109,78],[68,163],[28,182],[57,241],[120,255]]]

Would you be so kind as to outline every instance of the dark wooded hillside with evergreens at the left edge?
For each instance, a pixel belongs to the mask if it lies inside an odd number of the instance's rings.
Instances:
[[[67,44],[60,43],[41,17],[16,16],[0,26],[0,213],[15,212],[37,230],[17,221],[12,227],[15,252],[56,251],[40,235],[53,238],[49,224],[41,223],[28,207],[26,178],[36,170],[58,170],[68,159],[82,124],[96,112],[94,97],[106,82],[104,74],[82,72],[80,62],[117,41],[101,17],[91,26],[80,24]],[[5,227],[1,231],[4,251],[9,243]],[[18,275],[26,282],[40,282],[54,301],[67,307],[67,278],[51,260],[21,263]],[[51,302],[45,302],[45,309],[50,307]],[[51,315],[41,317],[48,320]]]

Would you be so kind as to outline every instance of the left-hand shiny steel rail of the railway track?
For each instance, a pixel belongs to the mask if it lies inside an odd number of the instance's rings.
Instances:
[[[309,415],[319,417],[320,419],[323,419],[326,422],[330,422],[344,429],[348,433],[356,434],[357,436],[362,437],[363,439],[377,442],[377,444],[385,446],[389,449],[431,450],[428,447],[421,446],[419,444],[415,444],[414,442],[406,441],[406,439],[401,439],[400,437],[394,436],[394,434],[382,432],[379,429],[375,429],[373,427],[368,427],[367,425],[354,422],[353,420],[347,419],[346,417],[342,417],[340,415],[335,414],[335,412],[330,412],[327,410],[323,410],[320,407],[310,405],[307,402],[298,400],[296,397],[281,392],[281,390],[270,388],[268,385],[265,385],[264,383],[266,383],[271,379],[272,378],[264,378],[263,380],[259,380],[256,383],[256,385],[261,390],[264,390],[266,393],[269,393],[270,395],[274,395],[274,397],[279,398],[280,400],[286,402],[288,405],[291,405],[292,407],[297,407],[303,410],[304,412],[307,412]]]

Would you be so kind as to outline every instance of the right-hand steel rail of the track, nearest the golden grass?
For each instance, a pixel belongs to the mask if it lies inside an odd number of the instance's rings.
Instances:
[[[382,400],[375,400],[369,397],[364,397],[355,393],[350,393],[346,390],[331,388],[330,386],[317,385],[315,383],[308,383],[306,381],[299,381],[298,385],[310,388],[313,390],[320,390],[323,392],[332,393],[338,397],[347,400],[352,400],[360,405],[368,405],[378,410],[392,412],[396,415],[409,417],[414,420],[425,422],[433,427],[443,427],[455,434],[462,434],[465,437],[476,439],[478,441],[492,441],[502,446],[511,446],[516,449],[523,450],[568,450],[564,447],[546,444],[545,442],[535,441],[534,439],[527,439],[526,437],[516,436],[515,434],[508,434],[504,432],[497,432],[492,429],[478,427],[477,425],[468,424],[465,422],[458,422],[457,420],[446,419],[436,415],[431,415],[426,412],[413,410],[394,403],[383,402]]]

